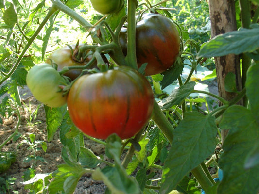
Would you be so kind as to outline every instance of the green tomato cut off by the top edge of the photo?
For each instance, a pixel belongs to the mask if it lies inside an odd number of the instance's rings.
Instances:
[[[101,14],[112,14],[121,9],[123,0],[90,0],[93,8]]]

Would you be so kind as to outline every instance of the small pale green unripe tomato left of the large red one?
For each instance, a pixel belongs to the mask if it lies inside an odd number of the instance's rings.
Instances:
[[[66,81],[50,64],[33,66],[27,74],[26,83],[34,97],[47,106],[60,107],[67,102],[67,96],[59,92],[60,85]]]

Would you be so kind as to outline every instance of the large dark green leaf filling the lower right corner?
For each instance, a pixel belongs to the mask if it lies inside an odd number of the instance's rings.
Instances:
[[[219,126],[230,130],[224,140],[224,153],[219,161],[223,179],[218,193],[256,194],[259,190],[259,164],[249,169],[245,169],[244,165],[247,155],[258,146],[258,122],[250,110],[234,105],[225,111]]]

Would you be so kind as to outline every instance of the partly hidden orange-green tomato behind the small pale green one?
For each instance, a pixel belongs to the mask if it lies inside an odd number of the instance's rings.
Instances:
[[[80,48],[83,45],[84,44],[79,44],[78,48]],[[71,45],[71,47],[74,52],[75,45]],[[52,52],[52,54],[47,58],[45,62],[48,64],[52,64],[52,63],[57,64],[57,70],[61,71],[63,67],[86,65],[93,58],[93,55],[91,54],[91,52],[92,52],[91,50],[87,50],[85,54],[87,55],[86,59],[82,63],[79,63],[73,59],[73,55],[69,46],[66,46]],[[101,56],[104,60],[104,63],[108,64],[109,62],[107,58],[104,56],[104,54],[101,54]],[[97,68],[97,63],[95,62],[93,65],[88,67],[88,69],[91,69],[91,68]],[[82,72],[82,69],[70,69],[63,75],[69,77],[71,80],[74,80],[81,74],[81,72]]]

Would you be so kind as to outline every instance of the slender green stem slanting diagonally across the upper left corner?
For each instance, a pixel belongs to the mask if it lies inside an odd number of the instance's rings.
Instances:
[[[33,43],[33,41],[35,40],[35,38],[38,36],[39,32],[42,30],[42,28],[45,26],[45,24],[47,23],[47,21],[49,20],[49,18],[57,11],[56,8],[51,7],[49,9],[48,14],[44,17],[43,21],[40,23],[39,27],[37,28],[37,30],[34,32],[34,34],[32,35],[32,37],[29,39],[28,43],[25,45],[24,49],[22,50],[20,56],[18,57],[15,65],[12,67],[12,69],[9,71],[8,74],[6,74],[2,80],[0,81],[0,85],[6,81],[16,70],[17,66],[19,65],[20,61],[22,60],[23,56],[25,55],[25,53],[27,52],[27,50],[29,49],[29,47],[31,46],[31,44]]]

